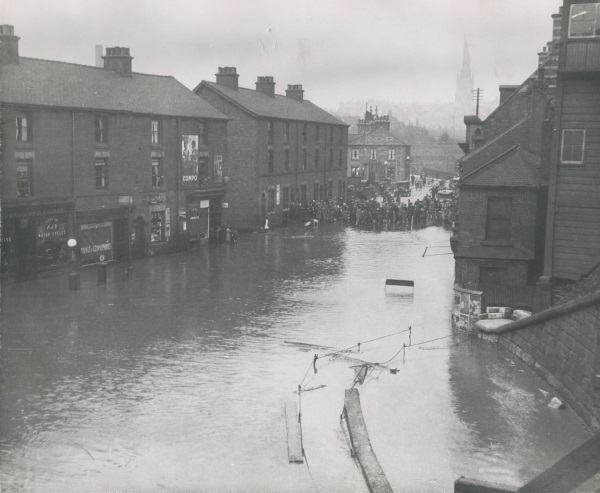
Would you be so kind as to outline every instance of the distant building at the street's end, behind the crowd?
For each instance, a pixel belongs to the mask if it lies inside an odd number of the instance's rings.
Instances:
[[[348,135],[348,177],[395,183],[410,179],[410,146],[390,133],[388,115],[365,110],[358,133]]]

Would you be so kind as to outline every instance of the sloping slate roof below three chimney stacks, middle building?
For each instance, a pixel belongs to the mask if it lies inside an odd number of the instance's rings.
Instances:
[[[235,90],[222,84],[206,80],[203,80],[198,84],[194,89],[194,92],[197,93],[201,86],[209,87],[255,117],[316,122],[328,125],[343,125],[344,127],[348,126],[342,120],[337,119],[307,99],[304,101],[297,101],[279,94],[268,96],[260,91],[246,89],[244,87]]]

